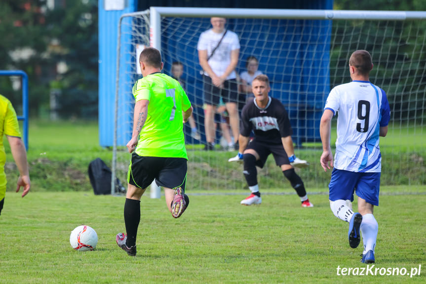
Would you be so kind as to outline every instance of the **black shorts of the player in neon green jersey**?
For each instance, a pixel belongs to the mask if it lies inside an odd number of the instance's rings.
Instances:
[[[155,179],[158,186],[182,187],[185,191],[187,169],[185,158],[142,157],[133,153],[127,182],[144,189]]]

